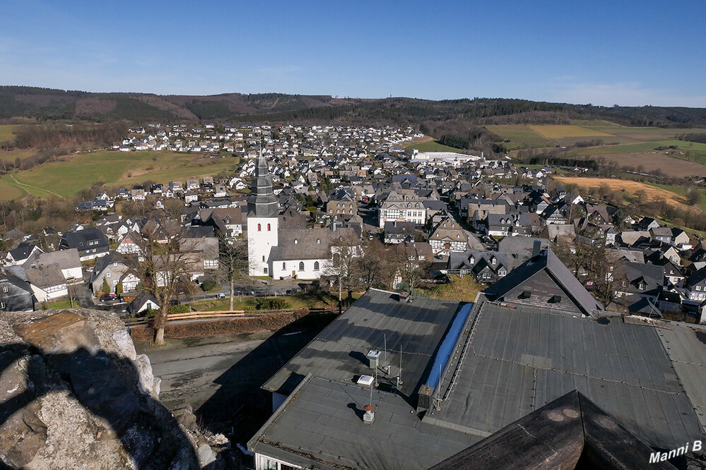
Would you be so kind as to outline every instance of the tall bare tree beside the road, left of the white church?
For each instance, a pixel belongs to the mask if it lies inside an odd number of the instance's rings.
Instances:
[[[180,283],[189,278],[194,265],[194,256],[183,248],[180,224],[174,219],[159,215],[150,219],[141,230],[136,271],[142,281],[142,289],[151,294],[159,304],[154,320],[154,345],[162,346],[167,310],[174,299]]]

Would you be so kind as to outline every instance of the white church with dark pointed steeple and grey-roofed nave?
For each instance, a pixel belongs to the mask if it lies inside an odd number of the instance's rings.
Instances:
[[[350,228],[279,230],[279,204],[263,155],[257,159],[247,198],[249,275],[319,279],[331,263],[331,245],[355,234]]]

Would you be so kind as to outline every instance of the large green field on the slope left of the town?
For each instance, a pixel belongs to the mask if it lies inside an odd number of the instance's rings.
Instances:
[[[168,183],[231,171],[237,162],[232,157],[211,159],[175,152],[82,153],[3,176],[0,198],[21,197],[18,190],[44,198],[64,197],[90,188],[97,181],[108,187],[131,186],[147,180]]]

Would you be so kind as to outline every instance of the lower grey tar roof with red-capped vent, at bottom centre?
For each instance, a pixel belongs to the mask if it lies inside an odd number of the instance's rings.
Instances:
[[[375,422],[363,424],[370,391],[307,379],[249,442],[254,452],[310,468],[427,469],[481,440],[420,421],[399,394],[374,390]],[[340,467],[339,467],[340,468]]]

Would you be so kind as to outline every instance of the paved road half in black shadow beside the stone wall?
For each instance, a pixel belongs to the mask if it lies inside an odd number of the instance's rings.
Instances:
[[[271,395],[261,385],[305,347],[322,325],[296,324],[271,332],[170,340],[167,347],[137,344],[162,379],[167,408],[191,404],[215,432],[246,442],[271,414]]]

